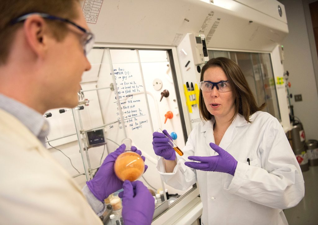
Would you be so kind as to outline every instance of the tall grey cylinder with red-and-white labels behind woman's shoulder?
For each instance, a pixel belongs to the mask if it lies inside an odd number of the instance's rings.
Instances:
[[[306,138],[301,122],[294,121],[293,129],[288,132],[288,140],[300,165],[301,171],[309,170],[308,155],[305,144]]]

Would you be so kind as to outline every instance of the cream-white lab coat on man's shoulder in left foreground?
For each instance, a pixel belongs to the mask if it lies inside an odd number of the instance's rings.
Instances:
[[[0,224],[102,224],[73,178],[2,109],[0,143]]]

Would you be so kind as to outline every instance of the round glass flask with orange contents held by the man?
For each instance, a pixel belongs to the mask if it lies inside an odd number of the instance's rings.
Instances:
[[[135,181],[142,176],[145,163],[139,154],[131,151],[131,139],[125,138],[122,143],[126,145],[126,149],[114,163],[115,174],[121,181]]]

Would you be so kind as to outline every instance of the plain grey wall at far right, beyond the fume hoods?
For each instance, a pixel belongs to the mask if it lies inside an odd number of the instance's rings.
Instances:
[[[291,83],[289,93],[293,94],[291,105],[294,115],[303,124],[306,139],[318,139],[318,93],[311,55],[308,30],[301,0],[280,0],[285,5],[289,33],[282,41],[284,46],[285,71],[288,70],[288,81]],[[294,95],[302,96],[302,101],[295,102]]]

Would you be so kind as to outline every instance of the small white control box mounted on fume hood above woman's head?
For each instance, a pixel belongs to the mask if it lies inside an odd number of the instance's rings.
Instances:
[[[189,38],[193,53],[194,64],[203,64],[204,56],[208,56],[204,36],[202,34],[190,34]]]

